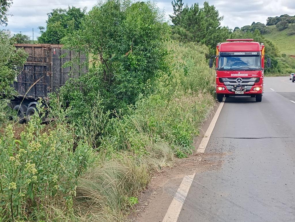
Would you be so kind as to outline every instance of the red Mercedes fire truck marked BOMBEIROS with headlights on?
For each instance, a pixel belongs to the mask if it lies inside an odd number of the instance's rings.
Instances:
[[[228,39],[218,43],[216,55],[209,61],[213,67],[216,59],[216,95],[221,102],[223,97],[251,96],[261,102],[264,74],[264,45],[253,39]],[[267,58],[267,68],[271,66]]]

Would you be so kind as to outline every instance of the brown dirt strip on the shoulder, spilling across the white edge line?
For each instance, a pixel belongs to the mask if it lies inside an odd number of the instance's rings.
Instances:
[[[149,188],[141,193],[139,203],[127,221],[162,221],[183,177],[194,172],[219,170],[225,155],[227,153],[195,153],[179,160],[175,167],[166,167],[155,173]]]

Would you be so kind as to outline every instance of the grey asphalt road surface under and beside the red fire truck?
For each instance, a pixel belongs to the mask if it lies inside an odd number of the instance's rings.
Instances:
[[[224,162],[196,173],[178,221],[295,221],[295,83],[264,87],[261,103],[226,99],[205,151]]]

